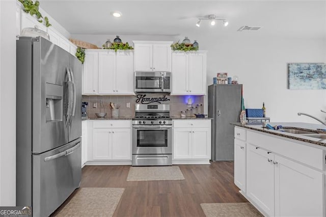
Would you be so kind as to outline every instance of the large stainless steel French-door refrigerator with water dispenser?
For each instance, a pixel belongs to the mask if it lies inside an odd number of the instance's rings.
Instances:
[[[48,216],[81,180],[82,64],[42,37],[16,44],[16,205]]]

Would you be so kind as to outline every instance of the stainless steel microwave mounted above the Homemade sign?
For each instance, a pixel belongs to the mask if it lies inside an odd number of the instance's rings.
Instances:
[[[171,93],[171,72],[134,72],[135,93]]]

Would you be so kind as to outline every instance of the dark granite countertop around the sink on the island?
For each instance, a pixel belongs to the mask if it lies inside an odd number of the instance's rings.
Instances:
[[[298,141],[312,143],[315,145],[320,145],[320,146],[326,147],[326,139],[313,138],[313,137],[308,137],[306,135],[294,134],[294,133],[290,133],[290,132],[283,132],[283,131],[279,131],[279,130],[268,129],[268,128],[264,128],[261,124],[257,125],[257,124],[246,123],[245,125],[242,125],[239,122],[231,123],[231,124],[234,126],[238,126],[238,127],[252,129],[252,130],[269,133],[269,134],[273,134],[273,135],[279,135],[280,137],[285,137],[285,138],[289,138],[289,139],[293,139],[293,140],[298,140]],[[320,130],[320,129],[326,129],[326,126],[322,125],[322,124],[296,123],[296,122],[282,122],[282,123],[280,122],[280,123],[268,123],[268,124],[270,124],[271,126],[282,125],[283,127],[286,127],[286,128],[303,129],[303,130],[314,132],[316,134],[323,133],[326,135],[326,131]]]

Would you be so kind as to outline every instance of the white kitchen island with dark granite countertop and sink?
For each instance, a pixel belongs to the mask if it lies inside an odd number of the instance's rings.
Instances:
[[[240,193],[266,216],[325,216],[325,126],[269,124],[286,131],[233,123]]]

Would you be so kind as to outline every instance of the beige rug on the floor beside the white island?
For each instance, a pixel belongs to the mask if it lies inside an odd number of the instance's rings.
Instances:
[[[250,203],[201,203],[200,205],[207,217],[263,216]]]

